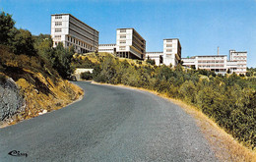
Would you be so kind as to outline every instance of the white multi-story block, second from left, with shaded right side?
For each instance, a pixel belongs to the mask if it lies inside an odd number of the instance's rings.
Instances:
[[[144,60],[146,40],[134,28],[116,29],[116,56]]]

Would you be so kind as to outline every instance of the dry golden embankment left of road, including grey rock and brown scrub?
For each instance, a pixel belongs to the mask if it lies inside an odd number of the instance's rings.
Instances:
[[[83,94],[47,60],[16,55],[0,44],[0,127],[60,109]]]

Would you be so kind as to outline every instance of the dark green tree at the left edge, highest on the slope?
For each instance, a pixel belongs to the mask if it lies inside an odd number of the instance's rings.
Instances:
[[[0,14],[0,44],[8,45],[10,39],[13,38],[12,32],[16,29],[15,22],[12,16],[8,13],[1,12]]]

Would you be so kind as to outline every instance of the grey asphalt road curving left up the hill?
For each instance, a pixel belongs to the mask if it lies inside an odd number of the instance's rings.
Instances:
[[[0,161],[217,161],[195,120],[149,92],[78,81],[85,97],[0,129]],[[27,153],[11,156],[12,150]]]

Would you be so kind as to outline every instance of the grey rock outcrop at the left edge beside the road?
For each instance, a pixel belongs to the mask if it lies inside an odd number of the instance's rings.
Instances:
[[[24,111],[25,100],[19,86],[11,78],[0,81],[0,126],[13,121]]]

